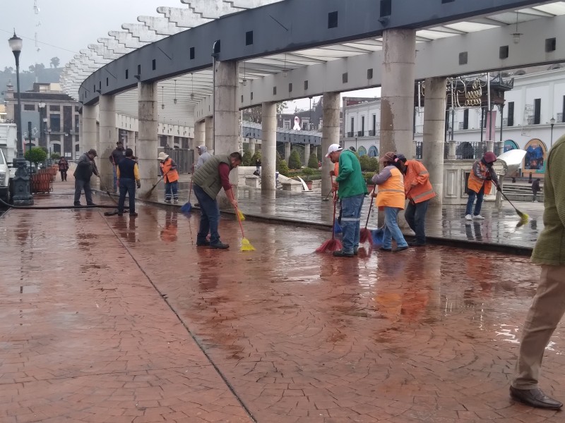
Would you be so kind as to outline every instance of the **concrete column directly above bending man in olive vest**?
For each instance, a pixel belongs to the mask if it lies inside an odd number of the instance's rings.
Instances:
[[[241,151],[239,146],[239,110],[237,109],[237,62],[218,61],[215,68],[215,140],[214,154]]]

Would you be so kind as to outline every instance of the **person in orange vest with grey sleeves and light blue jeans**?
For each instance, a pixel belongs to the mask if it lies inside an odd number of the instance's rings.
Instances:
[[[384,231],[383,246],[381,250],[392,251],[393,239],[396,241],[394,252],[404,251],[408,248],[408,243],[398,227],[398,212],[404,209],[405,192],[404,176],[401,171],[403,163],[393,152],[386,153],[381,159],[381,164],[385,166],[383,170],[373,176],[373,183],[379,185],[376,196],[376,206],[379,210],[384,209]]]

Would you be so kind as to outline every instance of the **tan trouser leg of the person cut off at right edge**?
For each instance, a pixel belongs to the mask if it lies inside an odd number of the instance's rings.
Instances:
[[[517,389],[537,388],[545,348],[565,314],[565,266],[542,266],[540,284],[525,318],[515,379]]]

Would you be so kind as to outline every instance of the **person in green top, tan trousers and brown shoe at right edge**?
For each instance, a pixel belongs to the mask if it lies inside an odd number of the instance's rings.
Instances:
[[[565,314],[565,135],[549,150],[544,185],[544,228],[532,254],[542,272],[522,328],[510,396],[532,407],[558,410],[563,404],[545,395],[538,383],[545,348]]]

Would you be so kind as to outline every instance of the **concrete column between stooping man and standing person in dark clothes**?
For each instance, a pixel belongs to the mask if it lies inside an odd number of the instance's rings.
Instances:
[[[114,170],[108,160],[118,141],[116,126],[116,97],[101,95],[98,105],[100,114],[100,138],[96,152],[98,153],[98,171],[100,171],[100,188],[104,191],[114,191]]]

